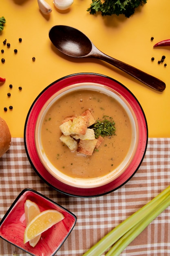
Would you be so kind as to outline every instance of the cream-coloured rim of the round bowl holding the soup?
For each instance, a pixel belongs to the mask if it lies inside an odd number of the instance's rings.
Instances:
[[[48,159],[47,155],[44,152],[43,146],[42,146],[42,140],[41,140],[41,129],[42,129],[42,122],[44,120],[44,117],[46,115],[46,112],[49,110],[49,108],[62,97],[63,95],[74,92],[77,90],[97,90],[98,92],[102,92],[104,94],[107,94],[108,96],[113,97],[115,100],[117,100],[121,106],[124,108],[126,113],[128,114],[128,117],[130,119],[131,127],[132,127],[132,139],[130,148],[128,150],[128,153],[124,160],[117,166],[117,168],[113,169],[109,174],[106,174],[101,177],[96,177],[92,179],[81,179],[81,178],[73,178],[66,174],[64,174],[62,171],[58,170]],[[77,83],[73,85],[69,85],[66,88],[63,88],[56,92],[43,106],[42,110],[40,111],[40,114],[37,119],[36,127],[35,127],[35,146],[36,150],[38,152],[38,156],[40,158],[40,161],[42,162],[43,166],[46,168],[46,170],[51,173],[53,177],[55,177],[57,180],[63,182],[64,184],[68,184],[69,186],[74,186],[77,188],[95,188],[99,186],[103,186],[105,184],[108,184],[112,182],[113,180],[117,179],[125,170],[128,168],[130,163],[132,162],[132,159],[135,156],[137,146],[139,143],[139,134],[138,134],[138,124],[135,117],[135,114],[129,105],[129,103],[124,99],[124,97],[121,96],[118,92],[113,90],[110,87],[107,87],[105,85],[97,84],[97,83]]]

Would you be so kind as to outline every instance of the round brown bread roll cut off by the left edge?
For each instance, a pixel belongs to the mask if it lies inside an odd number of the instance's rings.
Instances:
[[[0,117],[0,157],[7,152],[11,145],[11,133],[7,123]]]

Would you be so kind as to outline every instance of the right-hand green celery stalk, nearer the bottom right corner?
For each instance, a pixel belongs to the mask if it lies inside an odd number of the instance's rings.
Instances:
[[[170,196],[168,196],[159,206],[154,209],[144,220],[132,227],[124,236],[122,236],[108,251],[106,256],[119,256],[121,252],[134,240],[162,211],[170,205]]]

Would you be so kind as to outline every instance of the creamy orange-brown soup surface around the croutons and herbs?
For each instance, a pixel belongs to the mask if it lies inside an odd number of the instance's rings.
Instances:
[[[60,141],[62,120],[90,109],[95,119],[112,117],[116,132],[93,155],[71,152]],[[95,178],[108,174],[125,158],[132,139],[129,117],[112,97],[94,90],[77,90],[58,99],[48,110],[42,124],[42,146],[50,162],[61,172],[76,178]]]

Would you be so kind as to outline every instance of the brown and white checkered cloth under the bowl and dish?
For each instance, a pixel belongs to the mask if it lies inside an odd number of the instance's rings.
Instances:
[[[131,180],[116,191],[96,198],[76,198],[49,187],[31,167],[24,139],[13,138],[10,149],[0,158],[0,218],[23,189],[34,189],[77,216],[73,231],[57,255],[81,256],[169,184],[170,138],[149,138],[144,160]],[[28,254],[0,239],[0,255]],[[170,207],[121,253],[121,256],[137,255],[170,255]]]

